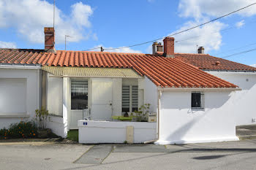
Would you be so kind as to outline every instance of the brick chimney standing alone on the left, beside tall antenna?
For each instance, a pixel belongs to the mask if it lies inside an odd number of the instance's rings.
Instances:
[[[45,27],[45,52],[56,53],[55,31],[53,27]]]

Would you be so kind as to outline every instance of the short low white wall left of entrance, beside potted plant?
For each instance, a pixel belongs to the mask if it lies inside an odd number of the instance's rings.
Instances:
[[[64,123],[63,117],[51,115],[50,121],[48,121],[46,126],[50,128],[54,134],[63,138],[67,137],[67,121]]]

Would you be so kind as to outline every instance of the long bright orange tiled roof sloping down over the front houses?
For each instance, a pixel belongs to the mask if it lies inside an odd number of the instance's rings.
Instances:
[[[132,68],[155,85],[169,88],[237,88],[176,58],[141,53],[0,49],[0,63],[39,63],[42,66]]]

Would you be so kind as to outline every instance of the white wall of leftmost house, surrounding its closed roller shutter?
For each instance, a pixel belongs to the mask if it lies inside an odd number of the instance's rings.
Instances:
[[[24,100],[26,102],[23,102],[26,106],[24,106],[24,109],[22,112],[18,111],[18,109],[15,109],[15,104],[8,104],[6,109],[9,107],[14,107],[11,109],[10,112],[4,112],[3,107],[1,107],[0,112],[0,129],[1,128],[9,128],[9,125],[11,123],[18,123],[20,120],[31,120],[34,119],[34,111],[35,109],[39,109],[39,69],[16,69],[16,68],[0,68],[0,79],[9,79],[10,81],[12,79],[23,79],[26,81],[26,92],[22,92],[23,95],[25,95]],[[1,90],[1,89],[0,89]],[[19,95],[19,93],[17,93]],[[4,96],[0,96],[3,97]]]

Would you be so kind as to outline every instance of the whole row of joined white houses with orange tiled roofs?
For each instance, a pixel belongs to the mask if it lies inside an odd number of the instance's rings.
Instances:
[[[237,140],[236,125],[255,119],[256,68],[203,54],[174,53],[174,39],[153,54],[0,49],[0,128],[46,107],[48,128],[60,136],[78,128],[84,110],[111,120],[151,104],[156,144]],[[148,139],[147,139],[148,140]]]

